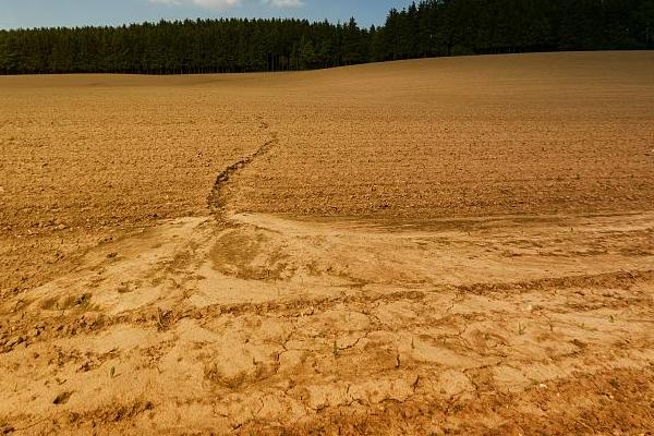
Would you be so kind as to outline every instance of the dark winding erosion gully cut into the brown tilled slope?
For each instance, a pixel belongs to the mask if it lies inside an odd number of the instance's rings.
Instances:
[[[269,125],[263,121],[261,128],[268,130]],[[216,177],[214,187],[207,197],[209,209],[221,225],[226,225],[230,221],[227,217],[227,206],[230,197],[229,183],[235,175],[243,172],[247,166],[250,166],[257,158],[268,154],[276,145],[279,144],[277,132],[270,132],[270,137],[262,144],[253,154],[243,157],[240,160],[229,165]]]

